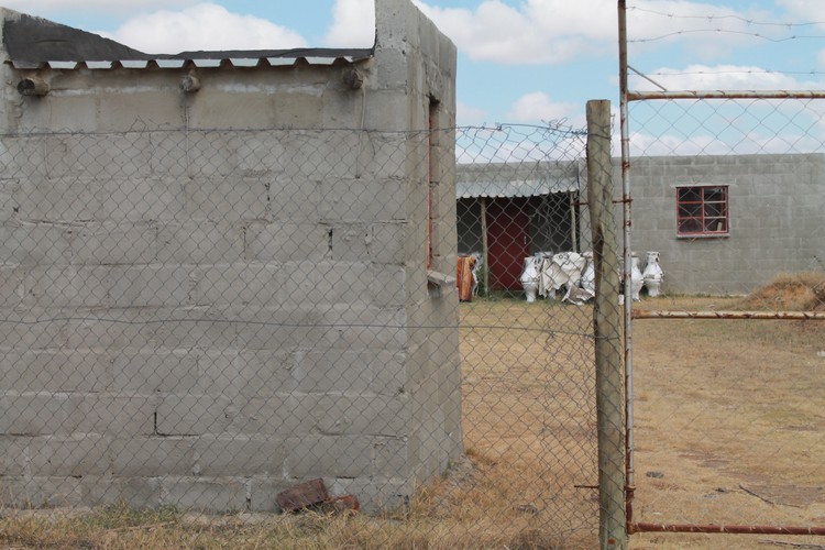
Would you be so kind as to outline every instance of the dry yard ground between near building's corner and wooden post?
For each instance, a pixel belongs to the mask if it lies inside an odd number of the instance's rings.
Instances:
[[[592,548],[598,502],[591,308],[463,304],[461,332],[464,441],[483,491],[462,495],[460,507],[514,537],[532,532],[528,546]]]

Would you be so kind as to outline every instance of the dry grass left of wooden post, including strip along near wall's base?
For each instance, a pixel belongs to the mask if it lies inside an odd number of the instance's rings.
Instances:
[[[28,512],[11,548],[590,548],[597,525],[588,308],[462,305],[466,459],[384,517]],[[554,331],[560,331],[556,333]]]

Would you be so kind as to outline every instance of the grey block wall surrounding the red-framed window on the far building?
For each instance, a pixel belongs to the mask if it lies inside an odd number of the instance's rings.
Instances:
[[[782,273],[820,271],[824,168],[822,154],[634,158],[632,250],[642,263],[645,251],[661,253],[667,293],[744,295]],[[728,235],[676,237],[675,189],[700,184],[728,186]]]

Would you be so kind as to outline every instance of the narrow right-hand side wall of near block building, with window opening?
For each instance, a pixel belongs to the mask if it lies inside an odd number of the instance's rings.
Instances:
[[[395,98],[393,110],[408,113],[409,128],[420,132],[407,140],[407,158],[414,162],[408,165],[411,177],[405,182],[405,256],[427,257],[429,232],[429,271],[454,277],[455,136],[450,129],[455,125],[457,50],[410,3],[384,3],[382,16],[387,19],[377,24],[386,25],[387,33],[378,38],[376,50],[384,55],[377,58],[406,59],[407,72],[397,73],[397,63],[393,67],[378,63],[378,72],[384,68],[392,75],[384,80],[383,96]],[[405,94],[413,98],[406,106],[400,101]],[[421,483],[442,473],[463,450],[459,334],[441,329],[458,327],[458,292],[454,284],[441,286],[428,279],[426,262],[406,267],[409,369],[404,391],[411,418],[407,453],[413,480]]]

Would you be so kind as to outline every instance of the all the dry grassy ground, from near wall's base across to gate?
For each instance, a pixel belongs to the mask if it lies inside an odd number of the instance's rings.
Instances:
[[[821,288],[807,284],[807,288]],[[763,307],[801,304],[779,280]],[[803,285],[805,286],[805,285]],[[779,292],[784,289],[783,292]],[[818,292],[818,290],[814,290]],[[818,295],[816,295],[818,296]],[[752,309],[741,298],[648,309]],[[0,520],[7,548],[594,548],[592,310],[462,305],[466,460],[384,517],[206,517],[112,507]],[[639,320],[634,331],[639,521],[825,525],[825,323]],[[632,548],[755,548],[781,537],[642,534]],[[784,539],[823,544],[822,539]],[[766,542],[767,543],[767,542]]]

